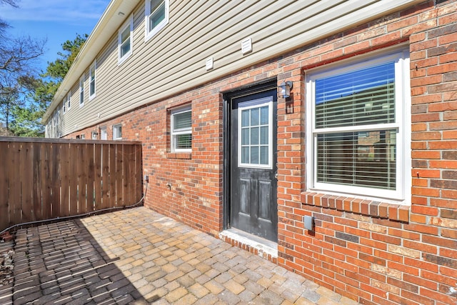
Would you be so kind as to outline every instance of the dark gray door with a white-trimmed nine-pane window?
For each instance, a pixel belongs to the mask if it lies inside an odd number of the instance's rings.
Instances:
[[[276,87],[230,102],[231,226],[277,241]]]

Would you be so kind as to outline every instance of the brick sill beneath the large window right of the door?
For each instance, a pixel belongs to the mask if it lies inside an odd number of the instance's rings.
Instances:
[[[301,193],[301,203],[380,219],[389,219],[391,221],[409,221],[410,207],[401,204],[388,204],[386,202],[356,199],[346,196],[333,196],[313,191],[303,191]]]

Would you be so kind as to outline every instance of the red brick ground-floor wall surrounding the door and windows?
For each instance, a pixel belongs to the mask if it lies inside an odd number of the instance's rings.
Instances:
[[[143,141],[144,174],[150,179],[146,206],[217,235],[221,93],[272,77],[278,83],[291,80],[293,97],[278,100],[278,264],[362,304],[456,304],[457,4],[436,2],[343,31],[100,126],[108,126],[111,139],[111,126],[122,123],[124,139]],[[411,202],[307,192],[306,71],[394,44],[411,51]],[[189,103],[192,153],[171,154],[167,109]],[[89,139],[100,126],[76,134]],[[315,217],[314,232],[303,228],[304,215]]]

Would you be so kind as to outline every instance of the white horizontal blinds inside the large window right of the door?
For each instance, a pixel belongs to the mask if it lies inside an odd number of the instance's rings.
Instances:
[[[316,79],[315,103],[317,181],[396,189],[394,62]],[[345,126],[363,131],[319,130]]]

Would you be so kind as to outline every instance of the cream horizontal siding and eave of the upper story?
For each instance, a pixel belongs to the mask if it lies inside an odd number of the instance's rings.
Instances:
[[[125,16],[133,16],[134,46],[134,54],[123,64],[118,64],[118,31],[126,19],[119,17],[119,10],[109,11],[106,15],[109,21],[103,21],[111,25],[100,23],[94,29],[94,36],[84,45],[59,90],[72,87],[73,102],[78,103],[78,79],[85,71],[86,86],[89,86],[89,66],[96,59],[97,102],[86,103],[79,111],[70,111],[66,124],[62,125],[64,135],[73,133],[76,125],[82,129],[103,124],[107,119],[147,103],[208,84],[354,24],[386,16],[387,12],[411,6],[418,0],[371,1],[370,4],[297,1],[294,5],[272,0],[169,1],[166,5],[169,23],[146,44],[143,43],[145,3],[122,1],[123,6],[130,7],[123,10]],[[288,16],[287,19],[284,16]],[[293,24],[289,22],[291,19]],[[241,54],[241,41],[246,37],[252,39],[253,51],[249,55]],[[205,62],[209,57],[214,59],[214,69],[206,71]],[[44,120],[48,120],[64,94],[66,92],[58,91]],[[86,99],[88,96],[86,92]]]

